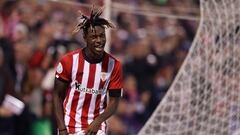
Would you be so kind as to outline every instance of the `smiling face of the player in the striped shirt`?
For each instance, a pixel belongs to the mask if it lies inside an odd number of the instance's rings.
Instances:
[[[90,28],[84,36],[87,43],[87,50],[93,55],[101,56],[104,53],[106,43],[105,29],[101,26],[95,26],[92,31]]]

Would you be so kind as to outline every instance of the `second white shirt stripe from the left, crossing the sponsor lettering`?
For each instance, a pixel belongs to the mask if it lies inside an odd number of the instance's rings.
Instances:
[[[81,88],[86,88],[87,87],[87,83],[88,83],[88,76],[89,76],[89,68],[90,68],[90,64],[84,60],[84,67],[83,67],[83,76],[82,76],[82,83],[81,83]],[[77,110],[76,110],[76,127],[81,127],[81,115],[82,115],[82,107],[83,107],[83,102],[85,99],[85,93],[82,92],[79,95],[79,100],[78,100],[78,105],[77,105]],[[81,130],[81,129],[77,129],[77,130]],[[77,131],[76,130],[76,131]]]

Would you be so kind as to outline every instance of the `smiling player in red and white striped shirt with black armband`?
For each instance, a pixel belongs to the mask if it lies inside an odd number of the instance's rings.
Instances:
[[[106,120],[118,107],[122,67],[104,51],[105,28],[114,26],[101,13],[81,15],[77,31],[83,30],[87,46],[58,63],[53,101],[59,135],[105,135]]]

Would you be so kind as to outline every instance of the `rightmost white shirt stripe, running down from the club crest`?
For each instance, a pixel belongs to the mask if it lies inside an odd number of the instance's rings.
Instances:
[[[105,84],[104,84],[104,87],[103,87],[103,89],[104,89],[105,91],[107,91],[107,87],[108,87],[108,84],[109,84],[110,79],[111,79],[111,75],[112,75],[112,71],[113,71],[113,69],[114,69],[114,65],[115,65],[114,59],[109,58],[109,61],[108,61],[108,70],[107,70],[107,73],[109,74],[109,78],[108,78],[108,80],[106,80],[106,82],[105,82]],[[102,114],[102,113],[104,112],[103,105],[104,105],[104,98],[105,98],[105,96],[107,96],[107,92],[105,92],[105,94],[101,96],[100,114]],[[107,98],[107,99],[108,99],[108,98]],[[103,122],[103,123],[102,123],[102,128],[103,128],[103,130],[105,130],[105,127],[106,127],[106,123]]]

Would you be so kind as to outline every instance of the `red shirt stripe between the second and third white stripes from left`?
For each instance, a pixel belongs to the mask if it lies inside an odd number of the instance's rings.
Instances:
[[[87,88],[93,88],[95,73],[96,73],[96,64],[90,64]],[[89,106],[90,106],[90,103],[91,103],[91,99],[92,99],[92,95],[86,93],[85,94],[85,99],[84,99],[84,102],[83,102],[82,117],[81,117],[81,123],[82,123],[82,126],[83,126],[82,127],[83,130],[88,128],[88,110],[89,110]]]

